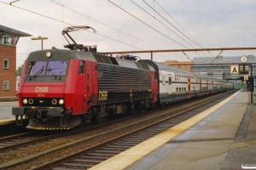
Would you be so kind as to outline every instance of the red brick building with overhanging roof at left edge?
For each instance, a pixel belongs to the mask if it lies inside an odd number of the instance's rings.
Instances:
[[[16,94],[16,45],[32,35],[0,25],[0,97]]]

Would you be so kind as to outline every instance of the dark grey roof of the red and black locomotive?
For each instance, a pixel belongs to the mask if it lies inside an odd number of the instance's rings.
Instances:
[[[47,52],[51,53],[51,56],[49,58],[46,57]],[[102,54],[94,54],[90,52],[67,50],[67,49],[44,49],[40,51],[35,51],[29,54],[27,59],[28,60],[82,59],[82,60],[95,61],[98,63],[107,64],[107,65],[119,65],[119,66],[133,68],[133,69],[143,69],[143,70],[154,71],[154,67],[151,65],[144,65],[142,63],[131,61],[129,59],[119,59],[119,58],[113,58],[113,57],[102,55]]]

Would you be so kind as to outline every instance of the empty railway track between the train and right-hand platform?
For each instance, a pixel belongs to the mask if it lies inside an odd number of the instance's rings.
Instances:
[[[145,139],[149,139],[155,134],[170,128],[166,127],[166,125],[158,125],[159,127],[155,127],[156,129],[154,130],[148,129],[153,127],[155,124],[164,122],[171,117],[178,116],[185,111],[205,105],[215,99],[222,98],[226,94],[231,93],[216,94],[208,98],[192,101],[189,104],[176,106],[170,111],[154,111],[158,113],[148,114],[150,115],[147,115],[148,117],[145,117],[144,115],[139,118],[140,116],[137,116],[137,118],[132,119],[132,121],[118,121],[119,124],[121,124],[119,126],[112,125],[111,127],[111,125],[109,125],[108,128],[106,127],[104,130],[96,129],[96,132],[91,134],[89,131],[89,133],[83,138],[74,139],[73,141],[65,144],[60,144],[48,150],[43,150],[35,154],[24,156],[20,159],[3,162],[0,165],[0,168],[8,169],[10,167],[12,169],[49,169],[54,167],[53,169],[57,170],[63,167],[82,169],[93,167],[97,163],[119,154],[121,151],[127,150],[129,147],[139,144]],[[173,121],[175,118],[172,118],[171,120]],[[183,119],[180,118],[177,120],[183,121]],[[171,124],[179,123],[177,120]],[[170,125],[170,122],[167,124]],[[73,131],[71,132],[73,133]],[[140,138],[138,139],[138,137]],[[115,143],[116,141],[119,142]],[[47,163],[43,163],[44,161],[47,161]],[[61,166],[56,167],[57,165]]]

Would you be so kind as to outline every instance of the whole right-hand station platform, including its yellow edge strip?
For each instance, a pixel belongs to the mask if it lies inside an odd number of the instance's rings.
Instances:
[[[256,105],[247,89],[90,169],[256,169]]]

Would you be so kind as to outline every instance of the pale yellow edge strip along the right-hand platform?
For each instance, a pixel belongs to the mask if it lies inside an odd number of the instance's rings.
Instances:
[[[236,92],[236,94],[240,92],[241,90]],[[125,150],[124,152],[119,153],[119,155],[113,156],[107,161],[103,161],[102,163],[96,165],[95,167],[91,167],[90,170],[119,170],[130,166],[135,161],[141,159],[143,156],[146,156],[148,153],[159,148],[162,144],[166,144],[171,139],[177,137],[177,135],[179,135],[180,133],[183,133],[189,127],[194,126],[197,122],[200,122],[205,117],[211,115],[212,112],[217,111],[220,107],[228,103],[230,99],[233,99],[236,94],[232,94],[229,98],[224,99],[223,101],[219,102],[217,105],[212,106],[206,111],[202,111],[200,114],[189,118],[187,121],[181,122],[175,127],[169,128],[165,132],[155,135],[153,138],[137,144],[131,149]]]

